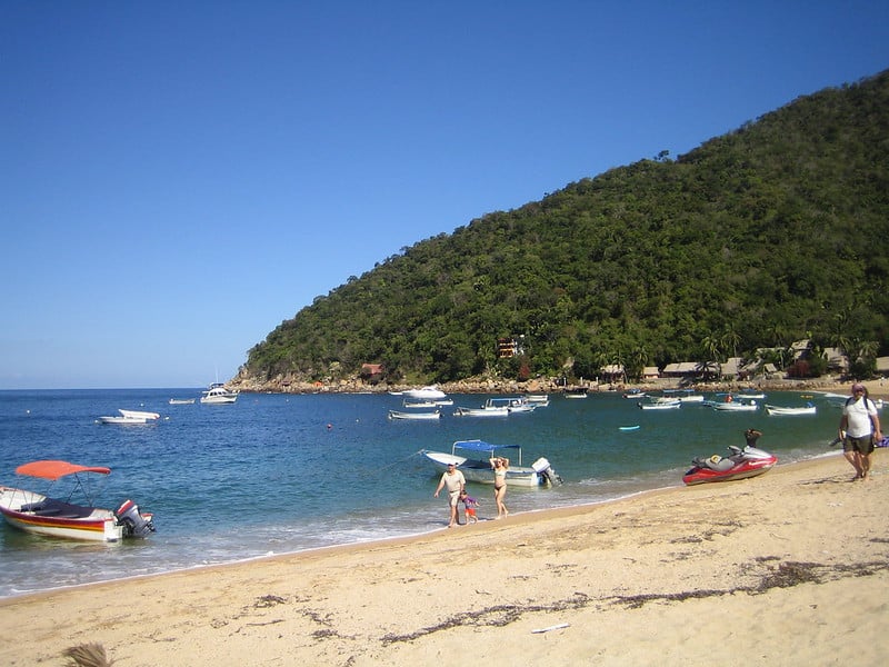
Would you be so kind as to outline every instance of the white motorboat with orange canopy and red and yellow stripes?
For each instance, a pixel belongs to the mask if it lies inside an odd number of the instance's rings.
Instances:
[[[110,468],[78,466],[67,461],[32,461],[16,468],[18,475],[50,480],[73,480],[64,498],[58,500],[36,491],[0,486],[0,512],[16,528],[49,537],[64,537],[92,541],[118,541],[124,537],[147,537],[154,531],[151,514],[142,514],[132,500],[124,500],[117,509],[93,506],[87,474],[110,475]],[[72,496],[84,498],[86,505],[69,502]]]

